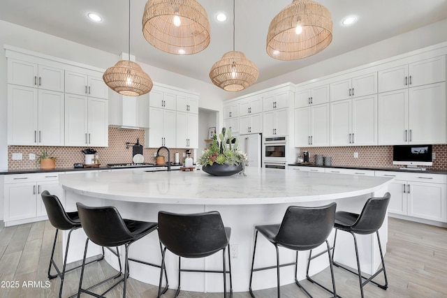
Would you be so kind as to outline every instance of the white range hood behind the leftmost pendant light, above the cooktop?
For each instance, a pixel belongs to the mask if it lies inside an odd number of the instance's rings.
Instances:
[[[129,55],[121,53],[121,60]],[[131,61],[135,56],[131,55]],[[109,126],[126,129],[149,128],[149,94],[124,96],[109,89]]]

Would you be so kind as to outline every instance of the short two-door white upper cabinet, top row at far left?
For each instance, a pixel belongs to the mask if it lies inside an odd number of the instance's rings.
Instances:
[[[8,59],[8,83],[64,92],[64,69]]]

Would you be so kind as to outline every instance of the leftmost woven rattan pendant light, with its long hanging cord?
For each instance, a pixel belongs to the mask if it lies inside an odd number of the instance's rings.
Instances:
[[[141,67],[131,61],[131,1],[129,0],[129,60],[118,61],[105,70],[105,84],[115,92],[126,96],[140,96],[151,91],[153,83]]]

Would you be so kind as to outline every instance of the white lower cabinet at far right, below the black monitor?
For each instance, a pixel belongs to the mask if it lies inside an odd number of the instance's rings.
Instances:
[[[376,171],[378,177],[393,177],[388,212],[447,223],[447,175]]]

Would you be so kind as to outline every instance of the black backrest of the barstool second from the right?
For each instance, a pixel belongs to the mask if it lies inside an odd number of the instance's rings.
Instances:
[[[274,241],[295,251],[320,246],[334,227],[336,207],[335,202],[321,207],[288,207]]]

